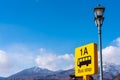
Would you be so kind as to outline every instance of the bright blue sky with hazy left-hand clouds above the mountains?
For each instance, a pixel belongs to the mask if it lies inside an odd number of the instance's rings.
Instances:
[[[0,0],[0,76],[33,66],[51,70],[72,67],[76,47],[98,42],[93,8],[99,3],[106,8],[103,48],[119,48],[120,1]],[[45,64],[46,58],[54,68]],[[56,64],[62,63],[61,59],[67,66],[58,68]],[[54,60],[58,62],[55,64]]]

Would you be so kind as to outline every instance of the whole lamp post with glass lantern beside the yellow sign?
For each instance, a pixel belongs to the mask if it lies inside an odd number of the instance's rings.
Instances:
[[[99,58],[100,58],[100,80],[103,80],[103,66],[102,66],[102,36],[101,36],[101,27],[104,21],[103,13],[105,8],[100,4],[94,8],[95,13],[95,24],[98,28],[98,40],[99,40]]]

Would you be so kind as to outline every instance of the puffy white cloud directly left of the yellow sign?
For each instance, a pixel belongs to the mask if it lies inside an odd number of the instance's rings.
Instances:
[[[72,54],[55,55],[52,53],[43,53],[40,54],[35,61],[39,67],[53,71],[70,69],[73,68],[74,65],[74,57]]]

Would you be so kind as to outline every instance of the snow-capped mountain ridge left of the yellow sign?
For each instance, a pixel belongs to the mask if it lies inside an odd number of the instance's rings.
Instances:
[[[66,71],[50,71],[48,69],[33,67],[8,77],[8,80],[68,80],[70,74],[74,74],[73,69]]]

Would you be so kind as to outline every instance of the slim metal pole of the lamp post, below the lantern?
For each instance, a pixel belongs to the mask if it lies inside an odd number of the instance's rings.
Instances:
[[[99,39],[99,58],[100,58],[100,80],[103,80],[103,66],[102,66],[102,37],[101,26],[98,26],[98,39]]]

